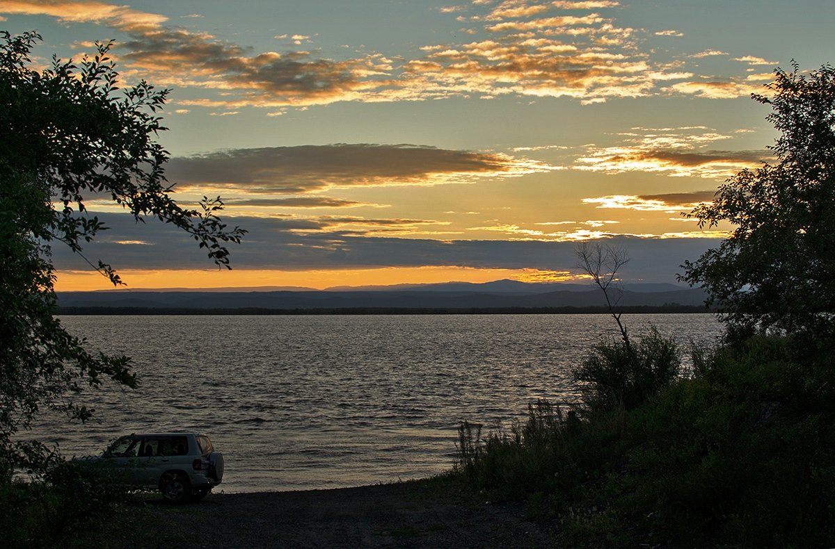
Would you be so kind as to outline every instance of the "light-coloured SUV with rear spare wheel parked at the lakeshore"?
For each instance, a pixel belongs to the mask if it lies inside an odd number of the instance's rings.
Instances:
[[[223,454],[195,433],[122,436],[94,461],[119,482],[159,489],[175,503],[201,500],[223,480]]]

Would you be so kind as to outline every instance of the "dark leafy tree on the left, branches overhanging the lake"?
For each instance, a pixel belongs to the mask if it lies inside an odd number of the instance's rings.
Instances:
[[[0,33],[0,479],[15,464],[37,467],[48,451],[15,434],[44,407],[81,420],[85,386],[103,380],[134,386],[124,356],[84,349],[54,318],[54,241],[78,254],[106,229],[84,200],[113,199],[137,221],[155,217],[191,234],[221,267],[227,242],[245,231],[217,217],[220,198],[184,209],[165,179],[168,152],[156,142],[165,128],[157,115],[168,90],[146,82],[119,90],[110,43],[75,64],[53,57],[43,71],[30,68],[37,33]],[[86,259],[86,258],[85,258]],[[93,264],[92,262],[90,262]],[[93,264],[120,284],[119,274]]]

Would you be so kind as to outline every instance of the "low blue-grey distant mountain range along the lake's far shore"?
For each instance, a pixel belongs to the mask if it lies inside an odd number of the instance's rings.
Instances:
[[[700,307],[701,289],[671,284],[626,285],[622,307]],[[103,290],[59,292],[62,312],[155,310],[507,310],[605,307],[595,286],[496,280],[483,284],[367,286],[329,290]],[[107,311],[88,311],[107,312]]]

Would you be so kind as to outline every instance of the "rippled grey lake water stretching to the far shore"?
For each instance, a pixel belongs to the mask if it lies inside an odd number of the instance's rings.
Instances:
[[[710,345],[713,315],[624,315]],[[89,348],[133,357],[139,390],[91,393],[86,426],[43,421],[68,456],[131,432],[200,431],[226,460],[218,491],[360,486],[453,465],[460,421],[573,400],[569,368],[614,337],[606,315],[63,316]]]

